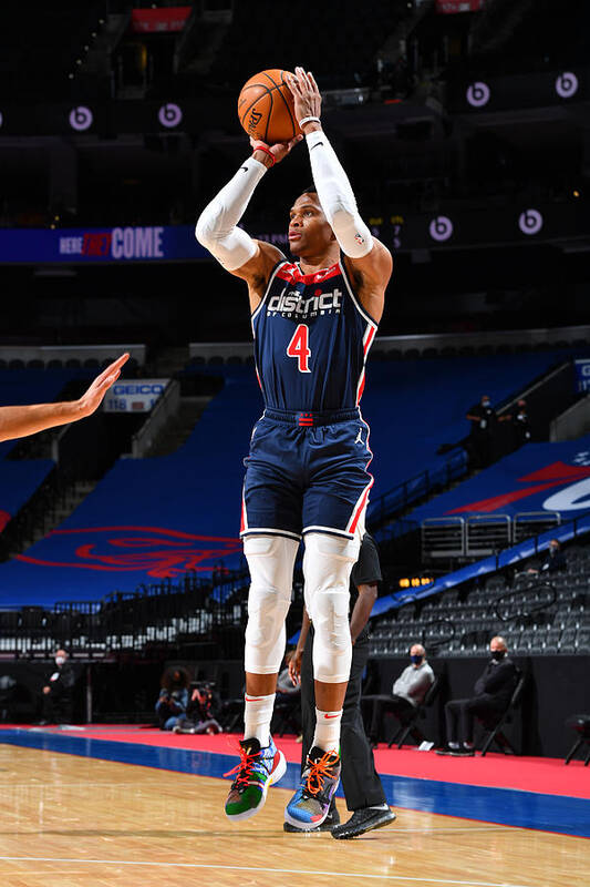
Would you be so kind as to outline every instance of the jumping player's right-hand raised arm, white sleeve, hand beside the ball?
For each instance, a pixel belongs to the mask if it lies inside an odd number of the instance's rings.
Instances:
[[[322,100],[313,74],[296,68],[296,75],[288,80],[288,85],[293,94],[297,121],[306,133],[313,182],[324,215],[352,267],[362,274],[372,290],[376,287],[383,295],[392,273],[392,257],[362,220],[349,177],[322,130]]]

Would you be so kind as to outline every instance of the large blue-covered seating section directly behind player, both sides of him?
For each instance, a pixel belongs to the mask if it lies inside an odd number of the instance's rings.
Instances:
[[[442,463],[436,450],[465,435],[465,410],[484,390],[501,401],[569,354],[372,361],[363,412],[376,453],[374,496]],[[120,459],[58,531],[0,564],[2,604],[100,600],[190,569],[210,572],[220,559],[239,565],[242,458],[260,394],[251,366],[206,371],[226,384],[185,445],[155,459]]]

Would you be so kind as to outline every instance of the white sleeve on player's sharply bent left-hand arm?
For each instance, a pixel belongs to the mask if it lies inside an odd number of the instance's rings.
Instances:
[[[248,157],[198,218],[195,237],[226,271],[236,271],[256,255],[255,241],[237,224],[266,171],[263,163]]]

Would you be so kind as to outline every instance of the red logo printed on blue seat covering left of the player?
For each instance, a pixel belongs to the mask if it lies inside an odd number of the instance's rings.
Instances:
[[[48,555],[41,557],[49,546]],[[53,530],[35,548],[40,557],[17,554],[17,559],[43,567],[125,571],[167,579],[188,570],[210,572],[219,559],[241,551],[241,542],[162,527],[90,527]],[[136,579],[141,580],[141,575]]]

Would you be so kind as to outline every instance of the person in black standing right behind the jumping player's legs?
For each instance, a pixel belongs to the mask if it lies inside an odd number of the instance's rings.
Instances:
[[[361,714],[361,685],[363,672],[369,659],[369,630],[366,623],[377,597],[377,582],[382,579],[376,546],[365,533],[361,544],[359,560],[351,574],[350,631],[352,638],[352,664],[349,685],[344,697],[342,715],[342,733],[340,737],[342,753],[342,786],[346,798],[346,807],[352,810],[351,818],[340,825],[340,816],[334,801],[330,813],[320,829],[331,830],[334,838],[353,838],[374,828],[381,828],[395,819],[390,809],[381,779],[375,771],[373,752],[364,732]],[[353,602],[354,599],[354,602]],[[307,643],[309,640],[311,643]],[[293,683],[301,682],[301,722],[303,741],[301,745],[301,769],[303,771],[308,753],[313,742],[315,727],[315,695],[312,669],[313,626],[307,611],[303,611],[303,624],[296,653],[289,663]],[[286,832],[300,829],[283,824]]]

